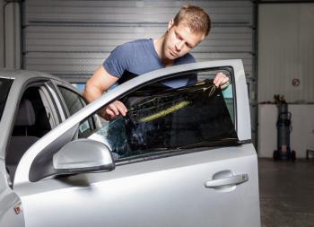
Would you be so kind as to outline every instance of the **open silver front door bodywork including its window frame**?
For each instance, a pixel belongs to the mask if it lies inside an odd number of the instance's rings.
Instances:
[[[240,61],[219,61],[196,64],[194,68],[226,65],[232,66],[235,74],[236,129],[244,144],[117,163],[116,170],[110,172],[30,181],[36,156],[42,151],[51,152],[45,148],[54,143],[62,146],[66,132],[100,106],[144,80],[162,75],[135,78],[74,114],[22,157],[14,189],[22,197],[26,226],[260,226],[257,154],[249,141],[249,100],[243,66]],[[174,74],[176,69],[164,72]],[[184,72],[191,68],[182,65],[179,69]],[[223,171],[248,179],[224,188],[205,187],[205,182]]]

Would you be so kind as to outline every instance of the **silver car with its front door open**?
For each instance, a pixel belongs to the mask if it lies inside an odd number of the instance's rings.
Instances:
[[[230,77],[223,91],[213,85],[217,72]],[[55,77],[7,74],[0,226],[260,226],[240,60],[143,74],[84,108]],[[165,85],[182,79],[194,83]],[[126,117],[100,123],[97,111],[113,100],[125,102]]]

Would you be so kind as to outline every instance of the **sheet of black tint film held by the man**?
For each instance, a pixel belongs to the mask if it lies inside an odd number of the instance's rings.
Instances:
[[[133,153],[236,137],[222,92],[210,80],[132,95],[125,101],[128,113],[124,121],[127,144]]]

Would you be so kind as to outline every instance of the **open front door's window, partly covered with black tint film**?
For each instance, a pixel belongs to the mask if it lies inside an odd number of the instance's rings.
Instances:
[[[97,134],[120,160],[189,147],[236,144],[232,84],[223,91],[215,87],[218,72],[231,80],[231,68],[198,71],[129,93],[120,99],[128,109],[126,117],[109,121]]]

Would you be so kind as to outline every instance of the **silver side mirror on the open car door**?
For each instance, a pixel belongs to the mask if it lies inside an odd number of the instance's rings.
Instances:
[[[115,163],[105,144],[79,139],[65,144],[53,155],[53,167],[59,175],[114,170]]]

